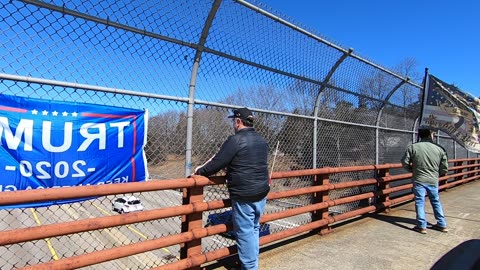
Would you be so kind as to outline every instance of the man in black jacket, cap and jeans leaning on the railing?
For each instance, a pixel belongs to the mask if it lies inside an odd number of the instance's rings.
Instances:
[[[247,108],[233,111],[235,134],[195,174],[210,176],[227,168],[227,187],[232,200],[233,230],[242,269],[258,269],[260,216],[270,191],[268,143],[253,128]]]

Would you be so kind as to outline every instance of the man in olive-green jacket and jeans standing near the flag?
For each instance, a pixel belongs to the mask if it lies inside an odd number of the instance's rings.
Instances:
[[[433,133],[429,129],[418,130],[420,141],[408,146],[402,157],[402,165],[413,173],[413,194],[417,224],[413,230],[427,233],[425,217],[425,193],[428,195],[437,224],[432,229],[448,232],[447,221],[443,214],[442,203],[438,195],[438,178],[448,172],[448,159],[445,149],[433,142]]]

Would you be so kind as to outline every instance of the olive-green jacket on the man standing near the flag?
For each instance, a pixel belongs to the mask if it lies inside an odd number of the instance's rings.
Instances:
[[[409,145],[401,162],[406,170],[413,173],[413,181],[425,184],[438,185],[438,177],[448,172],[445,149],[431,139]]]

